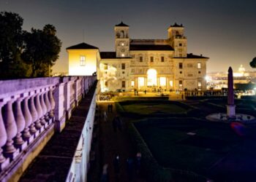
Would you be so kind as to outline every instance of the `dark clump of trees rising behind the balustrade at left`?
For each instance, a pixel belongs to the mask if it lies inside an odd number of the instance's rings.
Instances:
[[[59,58],[61,41],[53,25],[23,31],[23,18],[0,13],[0,79],[49,76]]]

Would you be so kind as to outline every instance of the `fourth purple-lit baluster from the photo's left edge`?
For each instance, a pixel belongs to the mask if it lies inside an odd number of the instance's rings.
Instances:
[[[31,138],[31,134],[29,132],[29,126],[31,126],[33,124],[32,130],[34,130],[34,132],[36,132],[37,130],[34,128],[34,123],[32,123],[32,116],[29,111],[29,97],[24,99],[22,111],[23,111],[23,116],[25,119],[25,129],[23,130],[23,138],[25,141],[28,141],[28,143],[30,143],[32,138]]]

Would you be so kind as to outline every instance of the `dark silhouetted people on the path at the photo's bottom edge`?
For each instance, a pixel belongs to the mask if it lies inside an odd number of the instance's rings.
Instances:
[[[126,163],[127,163],[127,166],[126,166],[127,177],[129,181],[132,181],[135,176],[135,173],[136,175],[140,175],[140,170],[141,170],[140,152],[136,154],[135,158],[128,157],[128,159],[126,160]],[[121,169],[120,157],[118,154],[116,154],[113,159],[113,170],[115,173],[116,181],[120,181],[120,169]],[[101,182],[109,182],[108,164],[105,164],[103,166]]]

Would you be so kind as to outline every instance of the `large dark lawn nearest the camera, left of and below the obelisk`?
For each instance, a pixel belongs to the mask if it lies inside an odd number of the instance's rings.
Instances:
[[[205,176],[241,143],[229,124],[191,118],[144,119],[135,127],[160,165]]]

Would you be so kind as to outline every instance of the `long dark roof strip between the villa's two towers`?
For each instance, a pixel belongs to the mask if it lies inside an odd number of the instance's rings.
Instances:
[[[170,45],[130,44],[129,50],[173,50]]]

